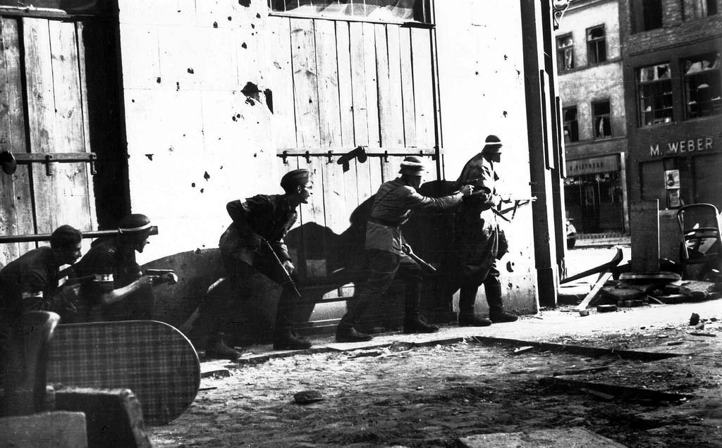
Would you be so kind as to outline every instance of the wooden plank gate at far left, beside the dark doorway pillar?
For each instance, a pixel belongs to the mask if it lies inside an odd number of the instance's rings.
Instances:
[[[58,15],[0,10],[0,151],[18,162],[13,175],[0,172],[3,236],[48,234],[61,224],[97,227],[86,65],[93,50],[86,43],[97,46],[99,26]],[[0,244],[0,263],[34,247]]]

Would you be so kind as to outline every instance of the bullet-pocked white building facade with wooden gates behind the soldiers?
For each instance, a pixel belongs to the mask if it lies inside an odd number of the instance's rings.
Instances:
[[[443,184],[495,134],[500,192],[536,197],[503,224],[505,301],[553,306],[564,240],[551,11],[547,0],[0,0],[0,144],[21,162],[0,175],[0,237],[148,214],[159,234],[139,263],[175,268],[168,301],[197,304],[210,283],[196,280],[222,275],[204,257],[230,224],[225,204],[280,193],[284,172],[306,167],[314,194],[287,244],[303,284],[323,284],[362,250],[344,240],[355,212],[406,155]],[[344,169],[357,146],[367,157]],[[408,237],[434,261],[451,230],[430,222]],[[3,242],[0,264],[34,246]],[[191,283],[200,295],[184,296]],[[304,318],[337,323],[353,293],[342,286],[305,297]],[[452,311],[451,297],[430,296]],[[158,318],[183,323],[170,302]]]

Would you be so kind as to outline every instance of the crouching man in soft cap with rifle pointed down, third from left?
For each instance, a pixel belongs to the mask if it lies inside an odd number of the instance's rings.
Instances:
[[[292,170],[281,179],[282,195],[256,195],[245,201],[227,203],[226,210],[232,224],[222,234],[219,248],[223,266],[235,293],[243,295],[251,288],[249,276],[260,272],[277,281],[272,271],[279,263],[293,281],[296,268],[288,254],[284,237],[297,219],[296,208],[308,203],[313,183],[308,170]],[[264,250],[270,245],[271,250]],[[274,256],[275,255],[275,256]],[[274,327],[275,350],[303,350],[311,343],[293,333],[293,315],[297,296],[290,284],[282,284]],[[206,356],[237,359],[238,351],[226,345],[222,333],[225,328],[225,309],[222,300],[209,299],[201,304],[201,318],[212,320],[211,333],[206,342]]]

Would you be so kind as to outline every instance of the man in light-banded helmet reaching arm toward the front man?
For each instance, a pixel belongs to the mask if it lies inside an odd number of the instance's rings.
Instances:
[[[348,302],[348,311],[336,329],[336,341],[369,341],[372,337],[355,329],[357,320],[371,302],[386,294],[396,275],[406,281],[404,333],[433,333],[438,330],[421,316],[422,271],[419,265],[401,250],[405,244],[401,226],[412,210],[443,210],[461,203],[474,188],[464,185],[456,193],[442,198],[428,198],[417,192],[425,167],[420,157],[409,156],[401,162],[400,177],[381,184],[373,197],[366,227],[365,248],[369,262],[368,278]]]

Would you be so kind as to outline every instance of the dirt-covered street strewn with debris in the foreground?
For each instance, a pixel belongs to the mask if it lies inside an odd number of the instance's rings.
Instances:
[[[658,331],[667,336],[657,338]],[[549,342],[619,349],[653,342],[650,351],[662,351],[670,335],[690,348],[708,343],[682,325]],[[643,361],[472,337],[297,354],[228,370],[230,377],[204,379],[181,418],[149,429],[154,446],[455,447],[471,434],[571,426],[628,447],[722,446],[718,355]],[[676,395],[625,398],[565,383],[576,381]],[[295,403],[294,394],[305,390],[323,400]]]

